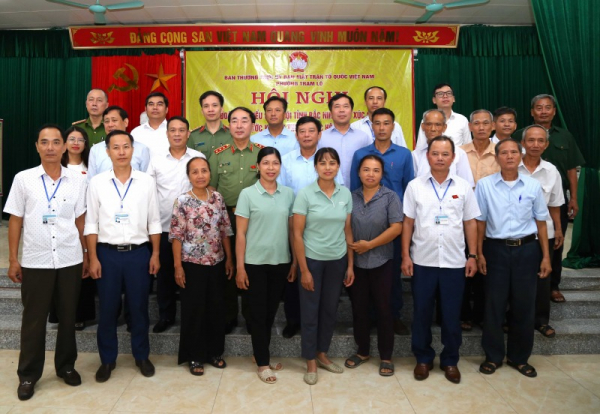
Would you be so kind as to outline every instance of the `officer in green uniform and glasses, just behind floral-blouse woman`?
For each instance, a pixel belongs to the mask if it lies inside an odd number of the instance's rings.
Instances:
[[[225,200],[235,237],[235,206],[241,191],[253,185],[258,179],[256,160],[258,152],[263,146],[250,142],[250,134],[254,130],[254,122],[256,122],[256,117],[250,109],[235,108],[229,112],[228,121],[232,142],[213,151],[209,159],[210,185],[221,193],[223,200]],[[246,304],[242,302],[242,315],[244,315],[247,323],[246,309]],[[233,328],[237,326],[237,315],[237,287],[235,275],[233,275],[227,281],[225,288],[226,333],[231,333]],[[247,327],[250,329],[249,326]]]

